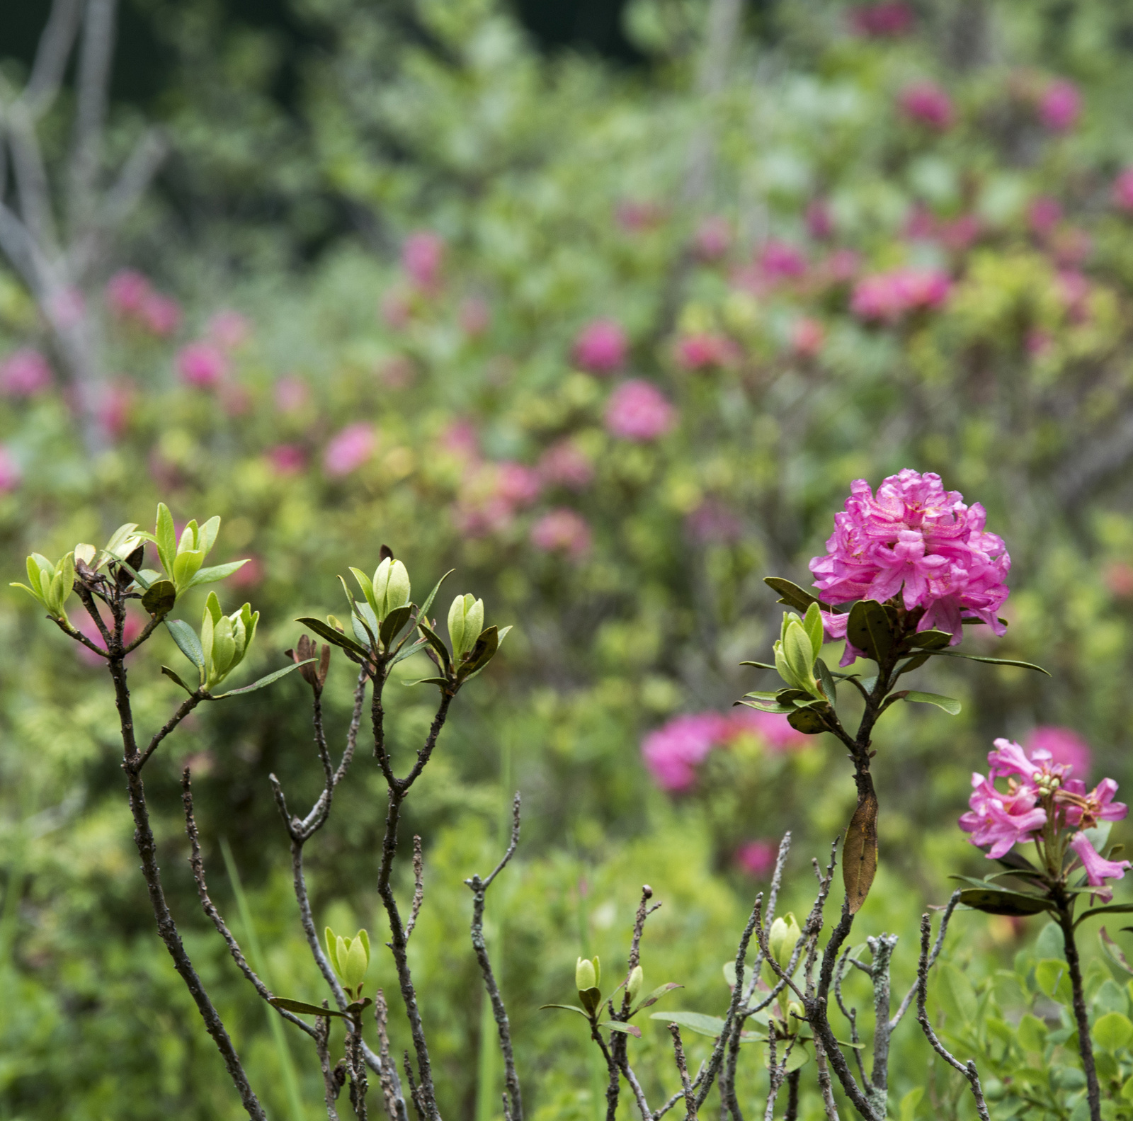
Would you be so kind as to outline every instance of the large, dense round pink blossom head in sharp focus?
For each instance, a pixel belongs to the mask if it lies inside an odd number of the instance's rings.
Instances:
[[[918,630],[946,630],[955,645],[965,614],[1004,634],[996,612],[1007,598],[1011,558],[1003,540],[987,533],[987,512],[946,491],[940,476],[905,468],[874,495],[859,478],[845,509],[834,516],[826,555],[810,562],[815,587],[830,603],[886,600],[902,594],[908,611],[922,612]],[[824,612],[826,632],[844,638],[849,615]],[[846,643],[842,664],[858,651]]]

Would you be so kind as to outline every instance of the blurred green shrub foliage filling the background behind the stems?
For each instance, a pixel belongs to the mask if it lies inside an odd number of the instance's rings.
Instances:
[[[674,800],[641,766],[641,736],[678,712],[726,711],[766,688],[738,665],[765,656],[777,628],[761,577],[806,583],[806,561],[852,478],[938,470],[987,506],[1014,560],[1008,636],[968,642],[1041,662],[1055,678],[932,664],[921,687],[961,697],[963,714],[886,717],[876,761],[883,873],[860,923],[901,933],[895,971],[910,980],[923,906],[945,900],[949,872],[983,873],[953,822],[994,736],[1072,725],[1094,749],[1094,778],[1133,780],[1133,224],[1110,201],[1115,176],[1133,162],[1133,7],[940,0],[918,6],[915,34],[891,41],[850,34],[840,6],[781,0],[747,11],[747,33],[713,50],[701,5],[636,0],[627,27],[650,62],[631,71],[540,56],[489,0],[420,0],[409,23],[355,0],[296,0],[293,10],[321,52],[287,108],[273,96],[270,36],[221,34],[207,5],[176,6],[161,22],[176,79],[157,112],[174,153],[107,274],[143,269],[177,295],[185,323],[174,340],[154,340],[108,315],[110,368],[130,404],[97,456],[76,439],[62,388],[0,401],[0,440],[23,472],[0,495],[11,578],[31,549],[57,557],[77,541],[101,542],[127,518],[147,523],[159,499],[179,520],[219,513],[216,560],[256,559],[254,580],[222,586],[227,611],[249,597],[263,613],[252,680],[282,664],[295,617],[338,610],[335,576],[348,564],[372,569],[383,542],[417,587],[455,567],[452,591],[483,595],[488,622],[516,630],[461,696],[409,802],[407,835],[419,832],[427,846],[411,953],[445,1115],[470,1118],[478,1101],[491,1115],[499,1101],[477,1094],[499,1072],[477,1058],[480,999],[461,881],[494,863],[519,788],[521,858],[493,888],[489,942],[533,1115],[593,1118],[594,1056],[571,1018],[536,1011],[569,997],[574,957],[617,961],[649,882],[664,909],[646,936],[647,982],[683,984],[679,1002],[666,997],[674,1008],[718,1012],[721,966],[753,891],[719,838],[791,827],[789,907],[802,911],[809,858],[825,852],[853,798],[842,753],[816,741],[787,762],[743,758],[758,798],[723,800],[734,787],[726,767],[739,764],[721,758],[719,798],[709,783],[699,799]],[[8,68],[18,79],[19,67]],[[1065,134],[1037,124],[1029,92],[1058,76],[1084,101]],[[945,133],[896,109],[900,91],[923,78],[954,100],[957,122]],[[125,144],[136,111],[121,109],[114,128]],[[1048,239],[1028,219],[1040,195],[1065,212]],[[833,215],[828,241],[808,232],[816,199]],[[912,238],[914,206],[937,223],[974,215],[980,236],[963,248]],[[722,261],[689,249],[709,216],[730,229]],[[398,263],[404,237],[420,229],[445,246],[441,280],[426,290]],[[1088,255],[1068,264],[1083,236]],[[768,238],[798,246],[809,264],[802,279],[752,295],[733,270],[750,266]],[[821,280],[819,262],[838,247],[859,254],[866,272],[947,269],[952,297],[892,326],[863,324],[846,287]],[[1085,277],[1076,307],[1060,296],[1068,269]],[[488,309],[483,331],[467,328],[469,299]],[[221,388],[186,387],[177,347],[221,308],[244,314],[250,334]],[[614,377],[571,360],[577,332],[599,315],[616,319],[631,343]],[[817,356],[792,347],[803,316],[821,324]],[[735,358],[682,370],[674,342],[697,332],[731,339]],[[10,273],[0,274],[0,338],[5,351],[48,346]],[[672,433],[637,444],[606,431],[611,387],[624,374],[650,380],[676,406]],[[279,406],[284,376],[306,387],[298,408]],[[324,449],[358,422],[373,425],[374,453],[344,476],[329,474]],[[475,433],[475,461],[454,443],[455,423]],[[588,486],[547,489],[488,533],[462,528],[476,486],[492,485],[483,464],[531,466],[565,436],[593,465]],[[301,450],[305,469],[279,469],[270,452],[282,443]],[[535,520],[557,507],[589,525],[581,559],[531,544]],[[696,530],[690,515],[706,508],[723,511],[725,529]],[[191,602],[184,617],[198,611]],[[152,931],[108,683],[15,595],[0,602],[0,1115],[235,1118],[212,1044]],[[174,704],[157,666],[177,657],[160,636],[134,659],[145,727]],[[419,676],[406,669],[406,680]],[[339,742],[350,690],[339,661],[325,702]],[[409,750],[427,727],[431,690],[391,691],[397,741]],[[249,893],[271,984],[316,999],[266,778],[278,774],[292,800],[314,797],[308,719],[292,677],[195,714],[148,771],[190,951],[278,1116],[291,1110],[279,1052],[263,1007],[196,908],[176,780],[191,763],[230,922],[247,935],[220,836]],[[767,789],[782,797],[768,800]],[[321,924],[382,928],[373,892],[382,798],[360,758],[309,852]],[[1028,1003],[1042,991],[1032,959],[1057,956],[1032,948],[1038,925],[961,915],[947,957],[946,1024],[955,1038],[978,1035],[969,1045],[1000,1082],[1039,1078],[1013,1076],[1020,1064],[1058,1065],[1034,1058],[1041,1047],[1019,1051],[997,1035],[1024,1004],[1057,1030],[1050,994]],[[395,990],[380,946],[375,960]],[[1099,960],[1092,995],[1106,994],[1105,1012],[1126,1014],[1124,993],[1097,971],[1109,968]],[[864,991],[857,996],[868,1003]],[[978,1028],[977,999],[1000,1010]],[[400,1024],[394,1036],[406,1045]],[[707,1043],[693,1042],[696,1061]],[[317,1116],[312,1056],[301,1041],[290,1044],[303,1115]],[[653,1093],[673,1088],[667,1045],[657,1025],[631,1045]],[[969,1115],[962,1082],[930,1064],[911,1024],[895,1048],[891,1099],[903,1118]],[[1115,1069],[1121,1062],[1127,1068],[1127,1052]],[[741,1098],[753,1103],[763,1082],[753,1061],[747,1071]],[[1063,1081],[1042,1090],[1054,1095],[1049,1115],[1075,1115],[1080,1093],[1072,1075]],[[1003,1101],[1004,1116],[1021,1104]],[[811,1092],[806,1115],[816,1109]]]

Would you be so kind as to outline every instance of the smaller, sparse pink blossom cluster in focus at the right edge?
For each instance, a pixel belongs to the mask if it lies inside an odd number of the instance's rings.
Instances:
[[[970,808],[960,818],[960,827],[972,834],[972,844],[989,846],[988,858],[998,859],[1017,843],[1039,840],[1048,813],[1055,814],[1058,830],[1075,830],[1068,844],[1082,861],[1090,886],[1099,889],[1094,894],[1111,899],[1106,881],[1123,878],[1130,861],[1105,859],[1084,831],[1098,822],[1121,821],[1128,813],[1124,802],[1114,801],[1117,783],[1102,779],[1087,791],[1081,779],[1070,778],[1073,767],[1056,763],[1048,750],[1036,748],[1028,756],[1019,744],[1006,739],[997,739],[995,747],[988,754],[987,778],[972,775]],[[996,789],[997,779],[1007,780],[1006,792]]]

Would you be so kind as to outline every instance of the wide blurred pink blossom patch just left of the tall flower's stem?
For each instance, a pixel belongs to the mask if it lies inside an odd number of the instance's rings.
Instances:
[[[676,716],[650,732],[641,742],[641,757],[662,790],[674,793],[696,784],[697,767],[716,747],[727,747],[740,736],[761,739],[770,751],[802,747],[807,737],[785,716],[742,708],[729,715],[718,712]]]

